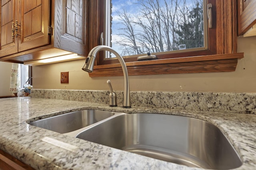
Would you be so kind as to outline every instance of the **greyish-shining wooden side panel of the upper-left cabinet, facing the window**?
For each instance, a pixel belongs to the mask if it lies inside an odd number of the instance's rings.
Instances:
[[[54,47],[86,54],[85,6],[86,0],[55,0]]]

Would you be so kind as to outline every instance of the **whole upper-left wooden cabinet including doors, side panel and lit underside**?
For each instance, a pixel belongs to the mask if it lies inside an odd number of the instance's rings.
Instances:
[[[85,8],[84,0],[1,0],[0,61],[86,55]]]

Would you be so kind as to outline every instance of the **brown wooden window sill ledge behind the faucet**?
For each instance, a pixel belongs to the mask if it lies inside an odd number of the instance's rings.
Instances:
[[[231,72],[236,70],[238,59],[244,53],[204,55],[152,61],[136,61],[126,63],[128,75],[152,75],[199,72]],[[90,77],[123,76],[122,67],[117,64],[94,66]]]

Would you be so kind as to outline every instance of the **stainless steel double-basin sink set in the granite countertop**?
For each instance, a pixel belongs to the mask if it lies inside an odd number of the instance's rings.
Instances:
[[[190,167],[225,170],[242,165],[218,127],[191,117],[83,110],[29,124]]]

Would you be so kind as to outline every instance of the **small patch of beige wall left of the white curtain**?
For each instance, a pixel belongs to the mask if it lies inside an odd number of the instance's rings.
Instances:
[[[12,63],[0,62],[0,96],[9,96]]]

